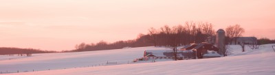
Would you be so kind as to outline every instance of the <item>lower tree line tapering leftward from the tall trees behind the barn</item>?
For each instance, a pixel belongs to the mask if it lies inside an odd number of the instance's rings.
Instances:
[[[118,41],[113,43],[108,43],[105,41],[100,41],[96,44],[76,44],[74,50],[63,50],[63,52],[80,52],[80,51],[92,51],[92,50],[111,50],[111,49],[120,49],[120,48],[135,48],[142,46],[153,46],[150,42],[148,42],[149,35],[144,35],[140,33],[137,35],[137,38],[134,40],[126,40],[126,41]]]

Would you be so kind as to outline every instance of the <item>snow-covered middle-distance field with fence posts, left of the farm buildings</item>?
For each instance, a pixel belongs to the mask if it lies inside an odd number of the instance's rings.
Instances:
[[[132,63],[134,59],[143,57],[144,50],[165,50],[167,48],[140,47],[116,50],[99,50],[87,52],[61,52],[33,54],[32,57],[17,55],[0,55],[0,72],[33,72],[41,70],[58,70],[64,68],[118,65]],[[3,58],[3,59],[2,59]],[[150,62],[150,61],[148,61]]]

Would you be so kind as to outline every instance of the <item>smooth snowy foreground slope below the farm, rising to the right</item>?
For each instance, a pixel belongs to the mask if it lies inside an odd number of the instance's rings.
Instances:
[[[164,61],[158,63],[137,63],[109,65],[100,67],[82,67],[66,70],[23,72],[20,75],[91,75],[91,74],[153,74],[153,75],[274,75],[275,53],[243,55],[214,59],[196,59],[187,61]],[[18,75],[19,75],[18,74]],[[17,75],[15,73],[14,75]]]

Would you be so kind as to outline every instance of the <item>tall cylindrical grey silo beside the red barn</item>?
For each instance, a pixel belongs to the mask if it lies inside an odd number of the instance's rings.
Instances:
[[[225,55],[225,31],[223,29],[219,29],[217,31],[217,39],[216,39],[217,48],[219,48],[219,54]]]

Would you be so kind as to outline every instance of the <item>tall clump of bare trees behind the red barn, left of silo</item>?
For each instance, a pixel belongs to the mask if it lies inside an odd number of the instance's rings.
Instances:
[[[214,37],[211,23],[186,22],[184,25],[169,27],[164,25],[159,29],[148,29],[149,42],[154,46],[181,46],[191,43],[205,42],[208,37]]]

